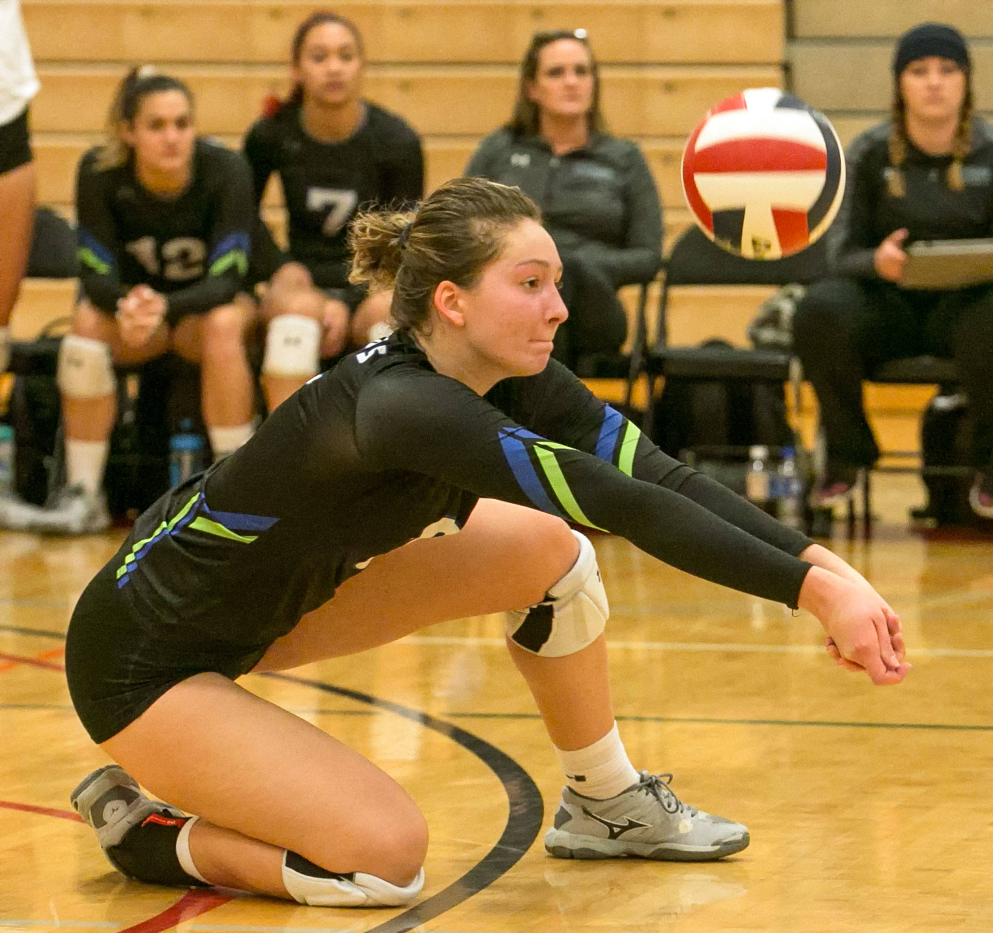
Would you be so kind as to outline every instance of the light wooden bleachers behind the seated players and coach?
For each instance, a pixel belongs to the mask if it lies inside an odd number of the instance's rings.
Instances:
[[[290,42],[315,6],[295,2],[179,0],[23,0],[42,80],[32,108],[39,197],[71,215],[75,165],[101,137],[113,89],[135,63],[154,62],[187,79],[202,131],[236,146],[263,97],[287,86]],[[686,134],[717,100],[743,87],[781,84],[781,0],[514,0],[334,4],[366,43],[366,95],[408,119],[424,137],[427,184],[460,175],[484,134],[509,115],[520,56],[538,29],[585,28],[602,63],[603,106],[613,131],[637,138],[665,207],[666,238],[690,223],[679,157]],[[283,221],[278,186],[266,216]],[[699,303],[673,309],[697,340],[736,341],[754,311],[743,291],[708,322]],[[633,306],[635,290],[626,303]],[[71,291],[25,289],[27,306],[65,313]],[[729,322],[733,326],[727,326]],[[19,328],[20,330],[20,328]]]

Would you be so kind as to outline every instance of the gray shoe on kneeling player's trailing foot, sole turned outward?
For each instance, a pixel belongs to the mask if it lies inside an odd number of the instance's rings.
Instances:
[[[106,853],[120,845],[128,831],[149,817],[184,819],[184,814],[157,800],[149,800],[120,765],[98,768],[79,782],[70,803],[83,820],[96,830],[96,840]],[[114,867],[116,863],[111,859]],[[125,872],[126,873],[126,872]]]

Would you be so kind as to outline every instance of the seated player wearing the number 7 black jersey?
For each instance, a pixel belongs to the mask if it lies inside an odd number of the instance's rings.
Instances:
[[[289,256],[259,221],[250,272],[269,280],[261,310],[270,410],[314,376],[321,359],[389,333],[389,294],[349,282],[349,225],[359,205],[420,201],[424,157],[404,120],[362,99],[364,64],[354,23],[313,14],[293,39],[293,90],[245,138],[256,202],[276,173],[289,215]]]

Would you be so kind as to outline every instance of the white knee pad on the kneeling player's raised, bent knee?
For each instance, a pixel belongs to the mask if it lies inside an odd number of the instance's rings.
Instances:
[[[607,627],[610,606],[600,578],[597,552],[585,535],[572,569],[536,606],[503,613],[506,634],[526,651],[562,658],[582,651]]]

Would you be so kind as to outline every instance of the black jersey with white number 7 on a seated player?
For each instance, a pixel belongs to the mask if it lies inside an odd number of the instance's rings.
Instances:
[[[414,129],[395,113],[365,102],[362,124],[348,139],[308,135],[299,104],[286,104],[248,131],[255,202],[273,172],[283,185],[290,254],[319,288],[347,288],[349,224],[359,208],[413,205],[424,195],[424,154]]]

